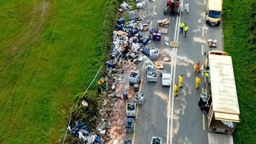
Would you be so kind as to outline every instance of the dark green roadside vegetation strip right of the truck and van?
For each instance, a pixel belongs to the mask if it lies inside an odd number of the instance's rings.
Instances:
[[[224,50],[232,56],[241,122],[235,144],[256,143],[256,0],[223,1]]]

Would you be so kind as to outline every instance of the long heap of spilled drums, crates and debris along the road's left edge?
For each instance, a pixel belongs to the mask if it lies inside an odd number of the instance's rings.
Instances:
[[[150,1],[154,2],[154,0]],[[135,0],[135,2],[137,9],[144,8],[147,3],[143,0]],[[149,28],[149,21],[141,22],[145,17],[140,16],[138,10],[130,11],[130,9],[131,5],[125,2],[118,9],[120,13],[128,12],[129,19],[124,19],[122,15],[118,16],[110,44],[110,59],[106,62],[106,75],[97,82],[100,96],[104,100],[100,105],[100,119],[97,120],[96,129],[92,129],[91,132],[86,124],[78,121],[71,122],[72,126],[68,128],[73,136],[85,144],[108,142],[115,144],[117,142],[113,132],[115,134],[135,132],[138,107],[142,106],[145,100],[145,94],[140,92],[141,75],[144,72],[142,73],[138,67],[141,66],[142,61],[148,63],[145,69],[146,75],[143,74],[147,76],[148,82],[156,82],[158,78],[156,69],[163,69],[163,62],[158,61],[161,48],[148,46],[152,41],[161,42],[161,36],[167,34],[167,29]],[[158,26],[167,26],[170,23],[167,19],[156,22]],[[165,59],[169,60],[169,58]],[[170,76],[164,78],[163,81],[167,81],[164,84],[170,86]],[[84,107],[87,107],[86,101],[83,103]],[[117,121],[122,121],[120,125],[123,128],[115,129],[120,126]],[[153,138],[151,143],[160,144],[162,141],[161,138]],[[124,139],[122,139],[123,144],[132,143],[131,139]]]

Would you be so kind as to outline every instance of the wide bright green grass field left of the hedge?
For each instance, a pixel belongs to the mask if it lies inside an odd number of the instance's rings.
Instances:
[[[93,57],[105,4],[0,0],[0,143],[63,140],[70,107],[102,65]]]

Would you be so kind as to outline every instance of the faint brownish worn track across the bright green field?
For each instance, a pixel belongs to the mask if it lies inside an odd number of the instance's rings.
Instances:
[[[44,1],[39,4],[35,4],[32,12],[29,13],[29,20],[24,23],[21,28],[21,33],[10,40],[10,46],[7,50],[7,56],[5,62],[12,60],[13,57],[20,53],[23,53],[27,48],[31,48],[33,43],[41,36],[41,32],[44,29],[45,21],[47,20],[48,12],[50,8],[50,2]]]

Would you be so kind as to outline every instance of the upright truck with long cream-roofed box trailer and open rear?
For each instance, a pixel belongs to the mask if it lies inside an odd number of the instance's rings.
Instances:
[[[232,58],[228,56],[228,53],[208,52],[204,65],[204,82],[206,105],[209,107],[208,128],[213,133],[231,135],[236,123],[240,122],[240,111]],[[226,137],[223,140],[229,138]]]

